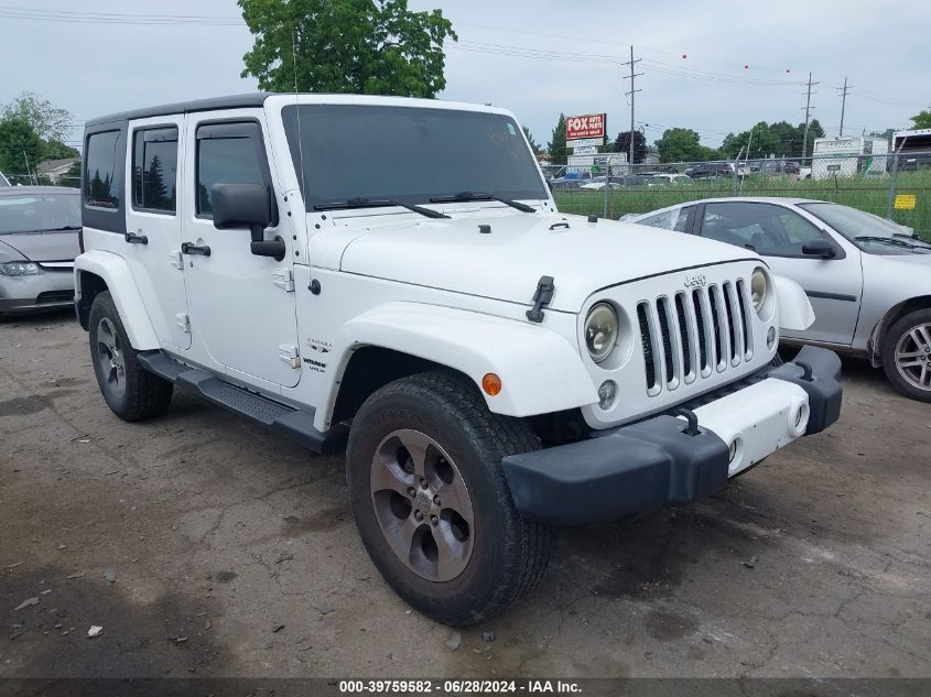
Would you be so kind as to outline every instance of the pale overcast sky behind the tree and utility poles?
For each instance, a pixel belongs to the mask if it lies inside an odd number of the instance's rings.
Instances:
[[[716,145],[757,121],[812,115],[836,134],[845,76],[845,133],[907,128],[931,102],[931,2],[865,0],[410,0],[441,7],[458,33],[446,48],[442,99],[513,110],[545,144],[562,111],[605,111],[613,134],[629,128],[621,79],[629,44],[637,64],[636,121],[650,142],[665,128],[697,130]],[[896,9],[895,6],[898,6]],[[15,19],[32,11],[216,15],[229,25],[136,25]],[[63,19],[63,15],[55,15]],[[87,18],[78,19],[86,20]],[[235,0],[0,0],[0,104],[31,90],[68,109],[76,122],[128,108],[251,91],[242,54],[251,36]],[[686,57],[683,57],[686,56]],[[744,67],[748,66],[748,67]],[[649,126],[646,126],[649,124]],[[79,138],[75,131],[74,138]]]

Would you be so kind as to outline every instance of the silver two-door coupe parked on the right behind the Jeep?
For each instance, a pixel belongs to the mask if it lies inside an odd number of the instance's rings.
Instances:
[[[931,402],[931,244],[909,228],[800,198],[708,198],[627,220],[761,254],[814,307],[814,324],[783,327],[783,341],[862,356],[900,392]]]

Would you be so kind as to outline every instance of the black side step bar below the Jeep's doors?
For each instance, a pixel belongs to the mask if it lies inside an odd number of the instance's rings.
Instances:
[[[149,372],[176,384],[194,388],[214,404],[255,418],[273,431],[299,440],[314,453],[335,455],[346,448],[349,429],[342,424],[322,433],[314,428],[313,412],[293,409],[255,394],[204,370],[180,363],[161,351],[143,351],[138,355],[138,360]]]

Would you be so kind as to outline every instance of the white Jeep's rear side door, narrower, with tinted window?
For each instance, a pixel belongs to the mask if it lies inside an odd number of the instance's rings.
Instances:
[[[159,340],[169,350],[187,349],[187,297],[181,263],[177,192],[185,186],[184,117],[131,121],[122,257],[142,295]]]

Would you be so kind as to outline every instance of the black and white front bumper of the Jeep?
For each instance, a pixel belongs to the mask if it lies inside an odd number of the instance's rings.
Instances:
[[[729,394],[684,405],[697,417],[664,414],[595,432],[587,440],[502,460],[515,504],[554,525],[618,520],[696,501],[798,437],[841,414],[841,360],[804,347]],[[730,447],[734,445],[734,456]]]

